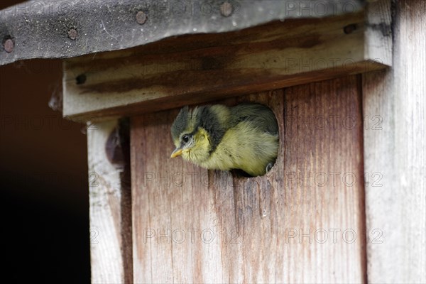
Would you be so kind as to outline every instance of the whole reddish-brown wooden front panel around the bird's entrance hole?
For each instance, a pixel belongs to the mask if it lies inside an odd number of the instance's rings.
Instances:
[[[257,178],[170,159],[178,109],[133,117],[135,283],[365,283],[359,82],[224,101],[277,116],[278,160]]]

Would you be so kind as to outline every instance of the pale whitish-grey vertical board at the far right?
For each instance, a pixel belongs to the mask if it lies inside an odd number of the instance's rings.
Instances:
[[[363,75],[368,282],[426,283],[426,2],[394,9],[393,67]]]

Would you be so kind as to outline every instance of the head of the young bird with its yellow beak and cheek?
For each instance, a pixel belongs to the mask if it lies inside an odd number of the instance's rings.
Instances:
[[[209,133],[203,128],[203,107],[196,107],[192,111],[188,107],[180,110],[172,125],[172,138],[175,151],[171,158],[182,155],[192,163],[201,163],[209,157],[212,149]]]

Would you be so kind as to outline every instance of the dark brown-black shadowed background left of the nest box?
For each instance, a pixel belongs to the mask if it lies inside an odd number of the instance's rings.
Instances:
[[[61,60],[0,66],[4,283],[90,281],[86,136],[48,107],[61,80]]]

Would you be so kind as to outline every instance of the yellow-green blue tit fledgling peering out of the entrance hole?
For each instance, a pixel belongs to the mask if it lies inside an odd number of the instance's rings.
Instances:
[[[209,170],[243,170],[264,175],[278,154],[278,124],[263,104],[184,107],[172,125],[175,151]]]

